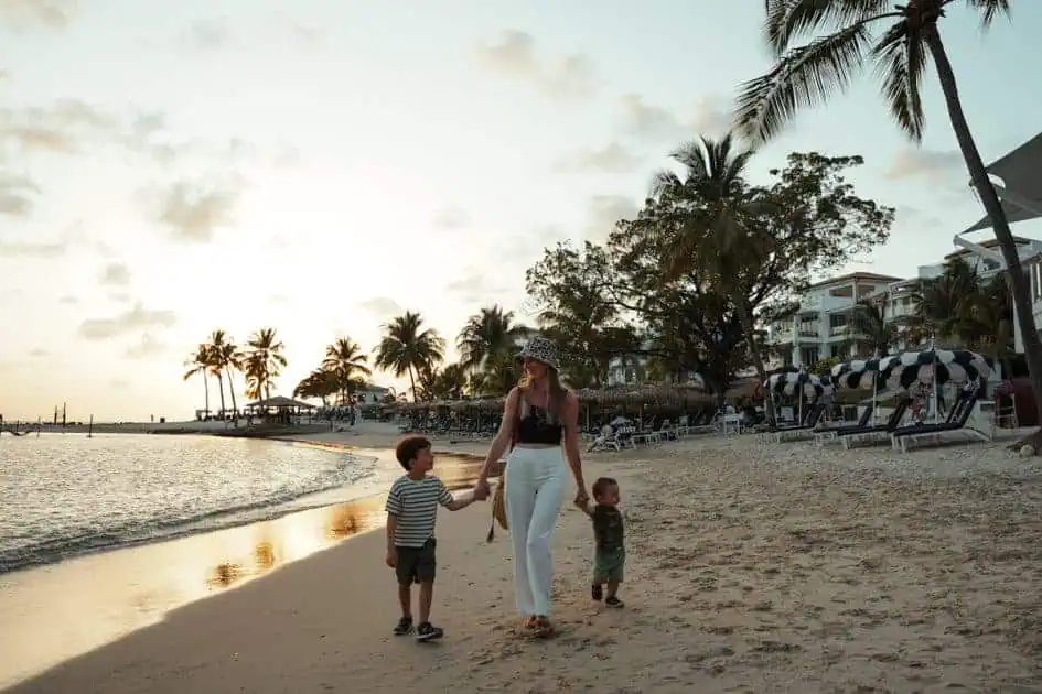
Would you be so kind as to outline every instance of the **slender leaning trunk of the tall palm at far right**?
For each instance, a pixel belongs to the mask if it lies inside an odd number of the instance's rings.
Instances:
[[[966,122],[966,115],[963,112],[963,105],[959,101],[955,71],[952,69],[952,63],[948,61],[944,42],[941,40],[941,32],[936,24],[930,24],[924,28],[923,34],[937,66],[937,77],[941,80],[941,89],[944,91],[944,100],[948,107],[948,117],[952,119],[955,139],[958,140],[970,181],[974,187],[977,188],[978,195],[980,195],[980,202],[991,220],[995,238],[999,241],[1002,259],[1006,260],[1010,289],[1013,293],[1013,312],[1017,314],[1017,324],[1020,326],[1020,335],[1024,343],[1028,376],[1031,389],[1034,391],[1035,408],[1042,414],[1042,339],[1039,338],[1034,314],[1031,310],[1031,284],[1023,267],[1020,264],[1017,242],[1013,240],[1013,232],[1009,228],[1009,220],[1006,218],[1002,203],[988,178],[988,171],[985,169],[984,160],[980,159],[980,152],[977,150],[977,143],[974,142],[974,135],[969,131],[969,123]],[[1042,429],[1039,429],[1025,441],[1038,451],[1042,445]]]

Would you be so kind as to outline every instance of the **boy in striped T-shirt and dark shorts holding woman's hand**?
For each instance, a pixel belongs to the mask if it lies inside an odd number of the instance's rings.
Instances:
[[[430,606],[434,595],[434,521],[438,505],[450,511],[466,508],[485,498],[481,491],[455,499],[444,484],[428,476],[434,467],[430,441],[407,436],[395,448],[395,457],[406,474],[395,480],[387,495],[387,565],[398,578],[398,601],[401,619],[395,636],[412,632],[412,583],[420,584],[420,622],[418,641],[440,639],[444,632],[430,623]]]

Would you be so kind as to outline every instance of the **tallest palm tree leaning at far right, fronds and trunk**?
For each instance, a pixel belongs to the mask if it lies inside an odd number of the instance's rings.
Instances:
[[[938,23],[955,0],[765,0],[765,34],[776,64],[743,85],[737,124],[761,142],[776,135],[801,107],[816,106],[850,85],[853,73],[872,62],[882,78],[890,113],[914,142],[922,141],[925,112],[921,96],[930,58],[937,68],[948,119],[974,188],[991,220],[1009,273],[1017,322],[1024,341],[1035,404],[1042,412],[1042,340],[1035,328],[1028,276],[999,196],[988,178],[959,98],[955,72]],[[965,0],[987,29],[1009,15],[1010,0]],[[873,29],[885,23],[878,33]],[[793,47],[798,39],[818,36]],[[1033,435],[1035,447],[1042,430]]]

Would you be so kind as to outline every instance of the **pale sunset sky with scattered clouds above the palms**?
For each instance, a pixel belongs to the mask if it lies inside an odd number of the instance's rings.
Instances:
[[[962,7],[942,24],[986,161],[1042,110],[1013,77],[1036,62],[1042,2],[1014,4],[986,34]],[[770,67],[762,0],[595,7],[0,0],[0,414],[191,419],[203,386],[183,362],[215,328],[275,327],[290,394],[325,345],[369,351],[406,310],[450,359],[480,307],[527,319],[543,249],[605,239]],[[933,72],[920,148],[871,75],[752,172],[862,154],[858,193],[898,219],[849,269],[912,276],[982,210]]]

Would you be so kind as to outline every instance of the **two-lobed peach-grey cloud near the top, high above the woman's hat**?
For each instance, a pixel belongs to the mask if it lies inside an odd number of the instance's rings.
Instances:
[[[533,35],[516,29],[503,32],[497,43],[480,44],[477,57],[501,75],[531,83],[550,97],[589,96],[598,88],[590,58],[572,54],[545,61],[536,53]]]

